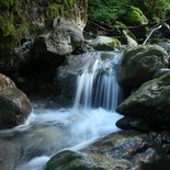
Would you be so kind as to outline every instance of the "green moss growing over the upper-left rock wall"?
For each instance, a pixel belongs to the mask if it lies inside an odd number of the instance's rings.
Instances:
[[[29,18],[29,13],[23,11],[23,7],[25,7],[24,1],[0,0],[0,53],[12,50],[21,44],[22,38],[30,34],[44,32],[45,29],[52,25],[54,18],[73,18],[73,5],[76,2],[76,0],[49,0],[47,1],[47,7],[44,7],[43,1],[30,2],[30,4],[27,4],[29,7],[39,4],[37,11],[42,19],[45,18],[45,26],[43,21],[41,23],[42,25],[36,24],[36,19],[35,22],[33,22],[32,19]],[[42,7],[44,11],[42,11]],[[27,9],[26,12],[29,11],[34,10]],[[31,15],[31,18],[34,16]]]

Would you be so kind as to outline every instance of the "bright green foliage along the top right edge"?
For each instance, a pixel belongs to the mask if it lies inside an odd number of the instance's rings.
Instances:
[[[160,21],[169,9],[170,0],[89,0],[89,18],[109,24],[125,21],[127,15],[137,23],[146,22],[145,16]]]

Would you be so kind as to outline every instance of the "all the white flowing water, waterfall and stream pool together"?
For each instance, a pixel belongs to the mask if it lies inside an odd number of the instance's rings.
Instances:
[[[44,110],[41,113],[35,110],[24,125],[1,131],[0,139],[14,144],[10,148],[12,154],[16,146],[20,148],[18,165],[2,167],[8,167],[7,170],[43,170],[57,151],[67,148],[78,150],[118,131],[115,122],[121,115],[115,107],[118,102],[116,72],[121,55],[110,53],[105,57],[102,53],[91,54],[93,59],[77,78],[72,107]]]

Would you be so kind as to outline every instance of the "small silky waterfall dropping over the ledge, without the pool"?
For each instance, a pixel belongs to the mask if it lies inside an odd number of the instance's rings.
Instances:
[[[104,54],[106,55],[106,54]],[[77,78],[77,91],[73,107],[80,105],[88,107],[103,107],[115,111],[118,99],[118,84],[116,79],[121,53],[95,53],[92,63]]]

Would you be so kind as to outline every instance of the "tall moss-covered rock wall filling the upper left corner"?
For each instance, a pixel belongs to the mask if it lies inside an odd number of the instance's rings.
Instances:
[[[15,70],[23,67],[31,57],[32,37],[50,32],[55,18],[67,19],[82,31],[87,22],[87,0],[2,0],[0,69]]]

